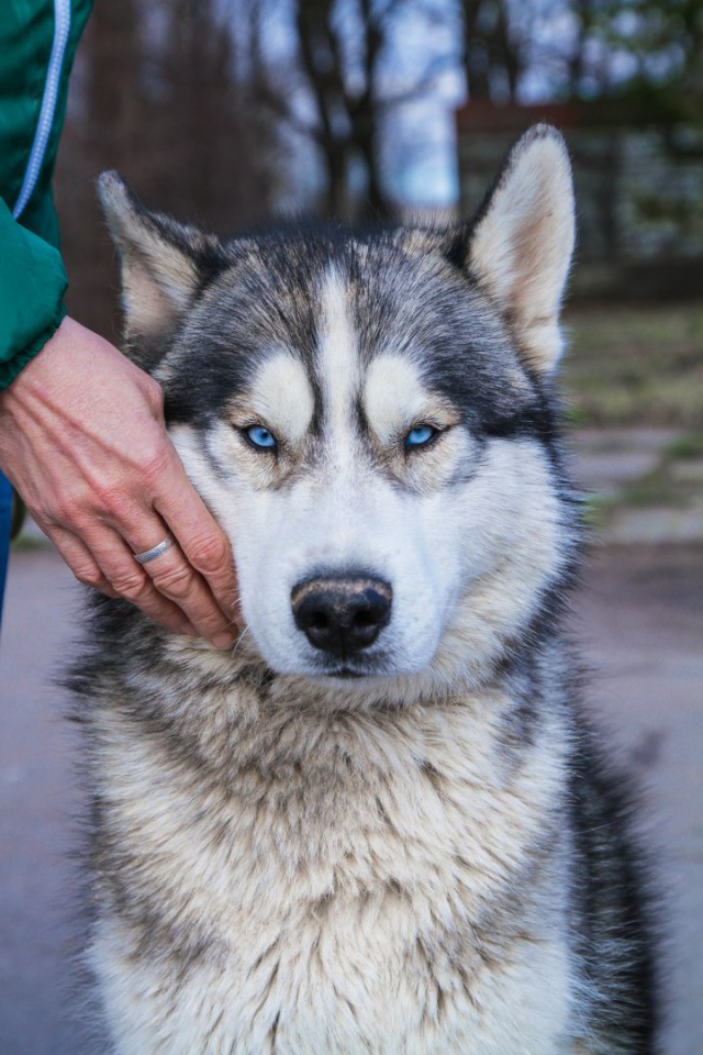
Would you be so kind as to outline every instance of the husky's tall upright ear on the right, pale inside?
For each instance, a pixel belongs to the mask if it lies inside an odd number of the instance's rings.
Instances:
[[[470,232],[466,266],[540,373],[561,353],[559,308],[573,241],[566,144],[556,129],[538,124],[510,152]]]

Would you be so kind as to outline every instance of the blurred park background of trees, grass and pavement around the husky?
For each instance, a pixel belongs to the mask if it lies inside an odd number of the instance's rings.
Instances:
[[[703,0],[96,0],[56,178],[69,309],[119,342],[105,168],[222,234],[450,222],[544,119],[578,197],[562,385],[593,542],[573,630],[647,789],[662,1055],[703,1055]],[[76,593],[30,526],[0,641],[0,1055],[104,1050],[63,985],[82,807],[51,676]]]

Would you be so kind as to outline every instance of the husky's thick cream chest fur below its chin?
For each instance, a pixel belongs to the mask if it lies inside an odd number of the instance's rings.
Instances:
[[[544,928],[565,899],[558,719],[516,754],[498,687],[326,715],[219,688],[199,710],[168,735],[97,724],[111,922],[93,956],[120,978],[121,1051],[563,1050],[568,949]]]

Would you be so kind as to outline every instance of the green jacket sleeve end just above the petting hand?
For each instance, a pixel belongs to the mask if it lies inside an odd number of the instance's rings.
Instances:
[[[58,249],[18,223],[0,198],[0,389],[58,327],[67,286]]]

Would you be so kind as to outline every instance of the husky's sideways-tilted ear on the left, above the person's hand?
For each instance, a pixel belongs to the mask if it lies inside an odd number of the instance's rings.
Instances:
[[[213,235],[148,212],[118,173],[99,177],[98,195],[120,255],[127,351],[148,370],[199,290],[226,266],[224,251]]]

